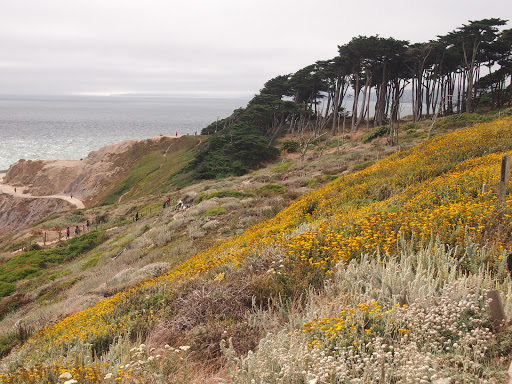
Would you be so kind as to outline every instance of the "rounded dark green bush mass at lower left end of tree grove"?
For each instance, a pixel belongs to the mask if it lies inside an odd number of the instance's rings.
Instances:
[[[256,128],[238,123],[201,144],[186,172],[195,179],[241,176],[278,155]]]

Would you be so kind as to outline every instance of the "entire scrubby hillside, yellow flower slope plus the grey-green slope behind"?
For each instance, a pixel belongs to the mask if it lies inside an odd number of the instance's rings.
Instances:
[[[501,118],[375,163],[382,153],[317,153],[307,170],[289,158],[175,190],[174,202],[194,202],[184,211],[162,208],[162,198],[142,203],[135,192],[130,207],[86,210],[118,218],[72,239],[82,247],[78,263],[18,282],[53,306],[4,319],[4,329],[14,319],[17,329],[5,342],[20,346],[2,360],[0,379],[503,382],[510,331],[492,324],[485,297],[498,289],[510,313],[503,256],[512,248],[512,199],[509,187],[499,204],[496,191],[511,137],[512,118]],[[294,179],[302,173],[309,184]],[[118,202],[121,185],[111,194]],[[84,213],[74,215],[83,222]],[[13,259],[21,269],[30,257],[48,263],[60,254],[31,252],[25,263]],[[69,287],[69,300],[58,296]],[[83,310],[73,313],[78,297]],[[19,297],[9,303],[29,308]]]

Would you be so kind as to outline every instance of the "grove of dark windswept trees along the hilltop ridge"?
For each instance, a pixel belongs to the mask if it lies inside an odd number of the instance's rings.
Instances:
[[[293,133],[303,156],[311,141],[328,131],[337,134],[341,118],[352,131],[363,124],[389,125],[389,143],[395,144],[404,102],[412,107],[415,122],[510,106],[512,29],[504,29],[505,24],[499,18],[469,21],[425,43],[378,35],[354,37],[338,46],[332,59],[267,81],[245,108],[204,128],[202,134],[226,137],[218,148],[226,154],[226,166],[219,172],[203,166],[203,159],[211,157],[205,152],[212,150],[205,143],[191,168],[197,178],[239,175],[275,156],[258,147],[258,156],[247,154],[257,162],[230,159],[228,144],[232,146],[239,129],[260,135],[260,144],[266,140],[267,147],[283,133]],[[235,136],[242,137],[243,132]],[[208,172],[201,172],[206,168]]]

